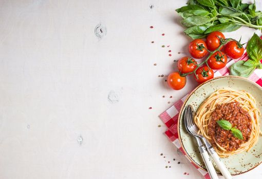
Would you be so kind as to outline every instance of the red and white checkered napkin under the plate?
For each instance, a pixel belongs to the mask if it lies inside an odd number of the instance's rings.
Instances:
[[[262,39],[262,36],[261,36]],[[238,59],[234,59],[234,60],[230,60],[227,65],[221,69],[218,70],[214,73],[214,77],[218,77],[218,76],[224,76],[224,75],[229,75],[229,66],[232,65],[234,62],[238,61],[238,60],[248,60],[248,55],[247,52],[245,50],[245,54],[242,55],[240,58]],[[262,70],[256,69],[254,71],[254,73],[249,77],[250,80],[256,82],[257,84],[259,84],[260,86],[262,86]],[[189,94],[188,94],[189,95]],[[175,102],[170,108],[168,108],[167,110],[165,110],[159,117],[160,119],[164,122],[164,124],[166,125],[166,127],[168,128],[165,131],[165,135],[169,138],[169,140],[175,144],[175,146],[177,148],[180,149],[180,151],[185,155],[185,152],[183,151],[179,139],[178,139],[178,133],[177,133],[177,121],[178,121],[178,114],[179,111],[182,107],[183,102],[185,101],[185,99],[188,97],[188,95],[185,95],[182,99],[178,100],[177,102]],[[185,157],[189,160],[188,156],[185,155]],[[190,161],[190,160],[189,160]],[[191,161],[190,161],[191,162]],[[192,163],[192,162],[191,162]],[[197,170],[203,175],[204,178],[209,179],[209,173],[201,168],[199,168],[198,166],[196,166],[194,163],[192,163]]]

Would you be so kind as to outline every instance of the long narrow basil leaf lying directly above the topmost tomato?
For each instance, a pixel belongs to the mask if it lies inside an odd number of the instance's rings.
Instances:
[[[241,26],[240,25],[236,25],[233,22],[230,23],[223,23],[223,24],[218,24],[215,26],[211,26],[210,28],[208,28],[204,34],[209,34],[211,32],[214,31],[221,31],[221,32],[232,32],[235,31],[237,29],[239,29]]]

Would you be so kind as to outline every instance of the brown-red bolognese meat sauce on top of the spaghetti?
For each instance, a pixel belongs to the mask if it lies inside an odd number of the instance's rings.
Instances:
[[[216,122],[218,120],[229,121],[232,127],[236,127],[242,132],[243,139],[240,140],[234,137],[230,130],[222,129]],[[216,146],[216,143],[218,143],[227,151],[234,151],[237,150],[242,143],[249,140],[252,128],[251,117],[248,111],[239,105],[239,102],[217,104],[216,109],[211,115],[208,128],[213,146]]]

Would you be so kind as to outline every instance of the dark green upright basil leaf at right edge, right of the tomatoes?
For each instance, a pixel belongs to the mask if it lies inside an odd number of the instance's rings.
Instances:
[[[247,44],[247,53],[251,60],[256,62],[262,59],[262,39],[254,33]]]

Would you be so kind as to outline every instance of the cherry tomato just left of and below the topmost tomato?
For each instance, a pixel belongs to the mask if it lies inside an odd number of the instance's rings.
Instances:
[[[208,54],[207,45],[201,39],[195,39],[189,43],[189,53],[194,58],[203,58]]]

